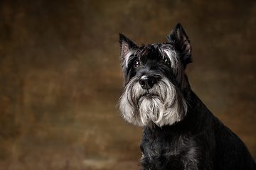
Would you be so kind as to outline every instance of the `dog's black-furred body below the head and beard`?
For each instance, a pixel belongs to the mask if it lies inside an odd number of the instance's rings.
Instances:
[[[145,126],[140,147],[142,169],[256,169],[245,144],[193,92],[183,121]]]

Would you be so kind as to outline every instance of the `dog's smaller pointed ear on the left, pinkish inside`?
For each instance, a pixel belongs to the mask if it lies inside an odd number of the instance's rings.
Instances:
[[[125,59],[125,56],[127,55],[127,52],[129,52],[130,49],[132,49],[133,47],[137,47],[135,42],[129,40],[122,33],[119,33],[119,43],[122,60]]]

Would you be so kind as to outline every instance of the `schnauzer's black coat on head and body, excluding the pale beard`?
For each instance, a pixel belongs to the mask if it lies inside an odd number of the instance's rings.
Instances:
[[[140,143],[142,169],[255,170],[255,161],[245,144],[215,118],[191,90],[185,73],[186,65],[192,62],[191,45],[181,24],[178,23],[166,37],[169,42],[138,47],[124,35],[119,36],[127,88],[127,84],[131,86],[137,83],[133,79],[139,80],[145,75],[154,77],[154,84],[165,77],[175,86],[177,112],[181,118],[165,125],[157,125],[153,120],[144,125]],[[175,67],[171,67],[168,57],[166,59],[159,49],[173,50],[178,57]],[[134,103],[136,98],[132,98],[131,105]],[[134,107],[130,119],[137,120],[142,114],[137,111],[138,107]],[[122,108],[124,106],[120,107],[121,111]],[[124,111],[123,114],[124,118],[132,122]]]

